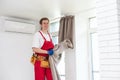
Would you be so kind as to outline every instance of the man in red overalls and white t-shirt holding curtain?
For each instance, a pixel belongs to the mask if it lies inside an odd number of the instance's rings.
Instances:
[[[49,19],[40,20],[41,30],[36,32],[33,39],[32,49],[35,52],[34,63],[35,80],[53,80],[48,58],[54,54],[51,35],[48,32]]]

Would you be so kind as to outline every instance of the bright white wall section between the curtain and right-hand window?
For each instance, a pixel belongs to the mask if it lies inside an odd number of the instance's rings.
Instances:
[[[75,15],[76,80],[90,80],[89,63],[89,18],[95,17],[95,9],[84,10]]]

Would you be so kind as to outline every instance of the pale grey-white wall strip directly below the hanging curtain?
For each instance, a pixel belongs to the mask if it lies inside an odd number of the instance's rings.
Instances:
[[[65,54],[65,80],[76,80],[75,49],[66,51]]]

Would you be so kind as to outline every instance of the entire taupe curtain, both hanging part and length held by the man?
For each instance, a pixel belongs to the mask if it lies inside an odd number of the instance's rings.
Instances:
[[[53,80],[61,80],[57,70],[57,64],[61,60],[63,51],[68,48],[73,48],[73,28],[74,16],[66,16],[61,18],[58,35],[59,43],[56,44],[53,49],[54,54],[49,57]]]

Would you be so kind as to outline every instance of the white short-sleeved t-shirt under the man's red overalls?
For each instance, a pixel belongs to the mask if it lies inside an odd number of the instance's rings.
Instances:
[[[43,34],[43,36],[45,37],[45,39],[47,41],[50,41],[51,35],[49,37],[48,34],[45,34],[42,31],[40,31],[40,32]],[[43,46],[43,44],[44,44],[44,38],[42,37],[42,35],[40,34],[40,32],[38,31],[38,32],[36,32],[34,34],[32,47],[41,48]]]

